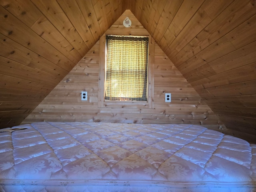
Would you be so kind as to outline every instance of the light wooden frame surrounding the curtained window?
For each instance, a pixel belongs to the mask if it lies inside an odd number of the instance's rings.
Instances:
[[[154,108],[154,40],[148,36],[148,82],[147,82],[147,101],[109,101],[105,100],[105,70],[106,70],[106,35],[100,37],[100,58],[99,58],[99,108]],[[113,34],[109,34],[113,35]],[[127,36],[127,35],[126,35]],[[138,35],[136,35],[138,36]]]

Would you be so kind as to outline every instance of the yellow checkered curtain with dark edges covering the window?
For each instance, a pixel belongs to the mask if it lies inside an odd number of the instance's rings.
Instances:
[[[146,101],[148,37],[106,36],[105,100]]]

